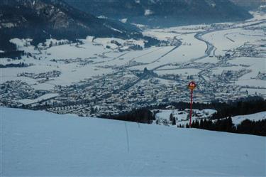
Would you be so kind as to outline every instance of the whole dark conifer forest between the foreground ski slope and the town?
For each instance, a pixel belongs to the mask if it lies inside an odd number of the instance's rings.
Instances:
[[[189,103],[187,102],[174,102],[171,103],[171,105],[173,105],[177,109],[185,109],[189,107]],[[155,120],[155,117],[150,109],[165,109],[166,106],[167,104],[160,104],[156,107],[134,109],[131,112],[126,112],[124,114],[109,116],[105,118],[151,124],[153,120]],[[245,100],[238,100],[236,102],[230,103],[194,103],[193,108],[216,109],[217,113],[213,114],[211,119],[201,119],[200,121],[196,120],[196,122],[192,122],[192,128],[266,136],[266,119],[257,122],[246,119],[245,121],[235,126],[231,118],[236,115],[254,114],[257,112],[266,111],[266,100],[262,99],[261,97],[249,97]],[[177,124],[177,127],[182,127],[182,125]],[[186,127],[189,127],[189,125],[187,125]]]

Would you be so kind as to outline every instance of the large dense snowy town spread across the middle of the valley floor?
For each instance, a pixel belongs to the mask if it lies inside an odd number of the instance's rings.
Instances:
[[[56,86],[52,92],[57,93],[57,97],[28,105],[28,108],[35,109],[35,107],[41,106],[41,109],[47,109],[57,114],[108,117],[140,107],[170,104],[171,102],[189,102],[190,92],[187,84],[192,78],[196,80],[197,84],[197,89],[194,91],[194,102],[236,100],[239,97],[247,96],[246,92],[240,91],[241,87],[228,85],[228,80],[240,77],[240,73],[244,71],[231,72],[234,77],[226,77],[225,73],[211,74],[210,70],[216,64],[182,63],[175,66],[192,68],[193,65],[197,68],[205,68],[205,70],[189,77],[157,75],[153,70],[147,69],[138,72],[121,69],[109,75],[97,75],[74,85]],[[17,100],[35,99],[47,93],[34,90],[26,82],[21,81],[5,82],[0,87],[1,104],[9,107],[24,107],[25,105]]]

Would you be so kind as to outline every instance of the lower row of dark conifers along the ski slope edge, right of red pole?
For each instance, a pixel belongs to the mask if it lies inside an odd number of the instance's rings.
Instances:
[[[179,124],[177,127],[184,128],[184,125]],[[186,128],[189,128],[189,124],[186,124]],[[238,134],[254,134],[259,136],[266,136],[266,119],[259,121],[250,121],[245,119],[240,124],[233,124],[232,118],[226,119],[201,119],[192,122],[192,128],[207,129],[218,132],[231,132]]]

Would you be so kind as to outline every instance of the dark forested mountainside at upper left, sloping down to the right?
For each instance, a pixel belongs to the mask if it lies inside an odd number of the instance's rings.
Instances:
[[[13,49],[10,38],[33,38],[36,45],[47,38],[101,36],[127,38],[140,33],[123,23],[96,18],[59,0],[1,0],[0,50]]]

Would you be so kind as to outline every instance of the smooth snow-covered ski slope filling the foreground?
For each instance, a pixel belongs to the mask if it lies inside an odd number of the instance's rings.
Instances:
[[[1,108],[1,176],[265,176],[265,146],[262,136]]]

